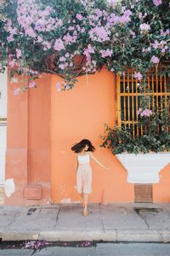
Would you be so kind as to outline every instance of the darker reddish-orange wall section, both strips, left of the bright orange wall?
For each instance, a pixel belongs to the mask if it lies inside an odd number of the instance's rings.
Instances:
[[[6,179],[13,178],[15,190],[6,204],[42,204],[50,201],[50,75],[37,80],[37,89],[14,96],[22,84],[8,81],[8,124]],[[42,198],[35,200],[35,189],[42,186]],[[26,199],[29,188],[31,199]]]

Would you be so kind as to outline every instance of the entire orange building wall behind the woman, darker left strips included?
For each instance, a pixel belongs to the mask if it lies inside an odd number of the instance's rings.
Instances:
[[[65,92],[56,90],[58,81],[59,77],[44,74],[37,80],[37,89],[19,96],[13,92],[21,84],[8,81],[6,179],[14,178],[15,191],[6,198],[6,204],[79,201],[76,154],[71,146],[82,138],[94,143],[94,155],[109,167],[105,171],[92,162],[93,192],[89,201],[133,202],[133,184],[127,183],[127,172],[107,148],[99,147],[104,124],[113,127],[116,120],[113,74],[103,69],[83,76],[74,89]],[[24,189],[39,184],[41,200],[26,199]],[[160,183],[153,185],[153,200],[169,202],[169,188],[170,165],[161,171]]]

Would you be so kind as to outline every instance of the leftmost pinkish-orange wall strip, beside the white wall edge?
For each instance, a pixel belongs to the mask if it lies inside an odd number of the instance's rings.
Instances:
[[[27,183],[27,103],[28,94],[14,96],[21,83],[8,81],[8,117],[6,179],[14,179],[14,193],[5,199],[7,204],[21,204],[23,188]]]

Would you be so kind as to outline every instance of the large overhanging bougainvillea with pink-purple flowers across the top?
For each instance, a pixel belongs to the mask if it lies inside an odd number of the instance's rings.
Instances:
[[[126,67],[142,79],[169,60],[168,0],[0,0],[0,69],[31,76],[58,74],[57,90],[103,66]]]

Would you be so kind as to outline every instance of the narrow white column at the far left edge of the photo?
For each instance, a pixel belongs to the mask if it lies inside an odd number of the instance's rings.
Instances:
[[[7,148],[7,72],[0,73],[0,186],[5,182]]]

